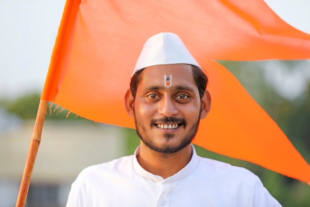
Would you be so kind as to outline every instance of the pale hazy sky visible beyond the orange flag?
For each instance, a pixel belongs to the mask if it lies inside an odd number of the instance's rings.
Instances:
[[[266,2],[289,24],[310,34],[309,0]],[[0,98],[42,91],[64,4],[65,0],[0,0]],[[285,77],[279,70],[275,76]],[[291,77],[292,81],[300,79]]]

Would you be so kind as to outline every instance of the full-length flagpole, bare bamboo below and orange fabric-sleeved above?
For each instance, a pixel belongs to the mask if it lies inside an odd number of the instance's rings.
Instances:
[[[44,86],[44,92],[42,94],[44,94],[45,92],[50,94],[51,91],[49,85],[51,84],[51,82],[58,82],[60,75],[59,73],[60,67],[58,67],[58,64],[61,62],[61,57],[63,56],[64,51],[66,51],[65,48],[66,43],[68,42],[68,35],[70,34],[71,29],[73,27],[73,23],[75,21],[76,13],[78,11],[80,3],[81,0],[66,0],[61,22],[58,29],[58,34],[56,37],[56,42],[52,52],[52,58]],[[26,198],[31,181],[31,175],[35,164],[36,156],[38,153],[39,145],[41,142],[43,124],[49,103],[48,100],[49,100],[48,98],[45,98],[43,95],[41,95],[41,100],[37,112],[37,118],[32,138],[30,141],[28,156],[16,201],[16,207],[24,207],[26,203]]]

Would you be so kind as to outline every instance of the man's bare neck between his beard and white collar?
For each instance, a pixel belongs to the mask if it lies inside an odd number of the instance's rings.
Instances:
[[[148,172],[166,179],[182,170],[190,162],[192,154],[191,144],[178,152],[165,154],[156,152],[141,142],[137,160]]]

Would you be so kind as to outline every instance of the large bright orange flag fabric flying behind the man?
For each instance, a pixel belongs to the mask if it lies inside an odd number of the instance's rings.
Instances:
[[[95,122],[135,128],[124,107],[145,41],[180,36],[206,72],[212,106],[194,143],[310,184],[310,166],[217,60],[310,59],[310,35],[263,0],[67,0],[42,100]]]

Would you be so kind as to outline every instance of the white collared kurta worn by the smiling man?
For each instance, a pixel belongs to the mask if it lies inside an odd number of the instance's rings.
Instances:
[[[197,155],[163,179],[144,170],[136,155],[85,168],[66,207],[281,207],[247,169]]]

